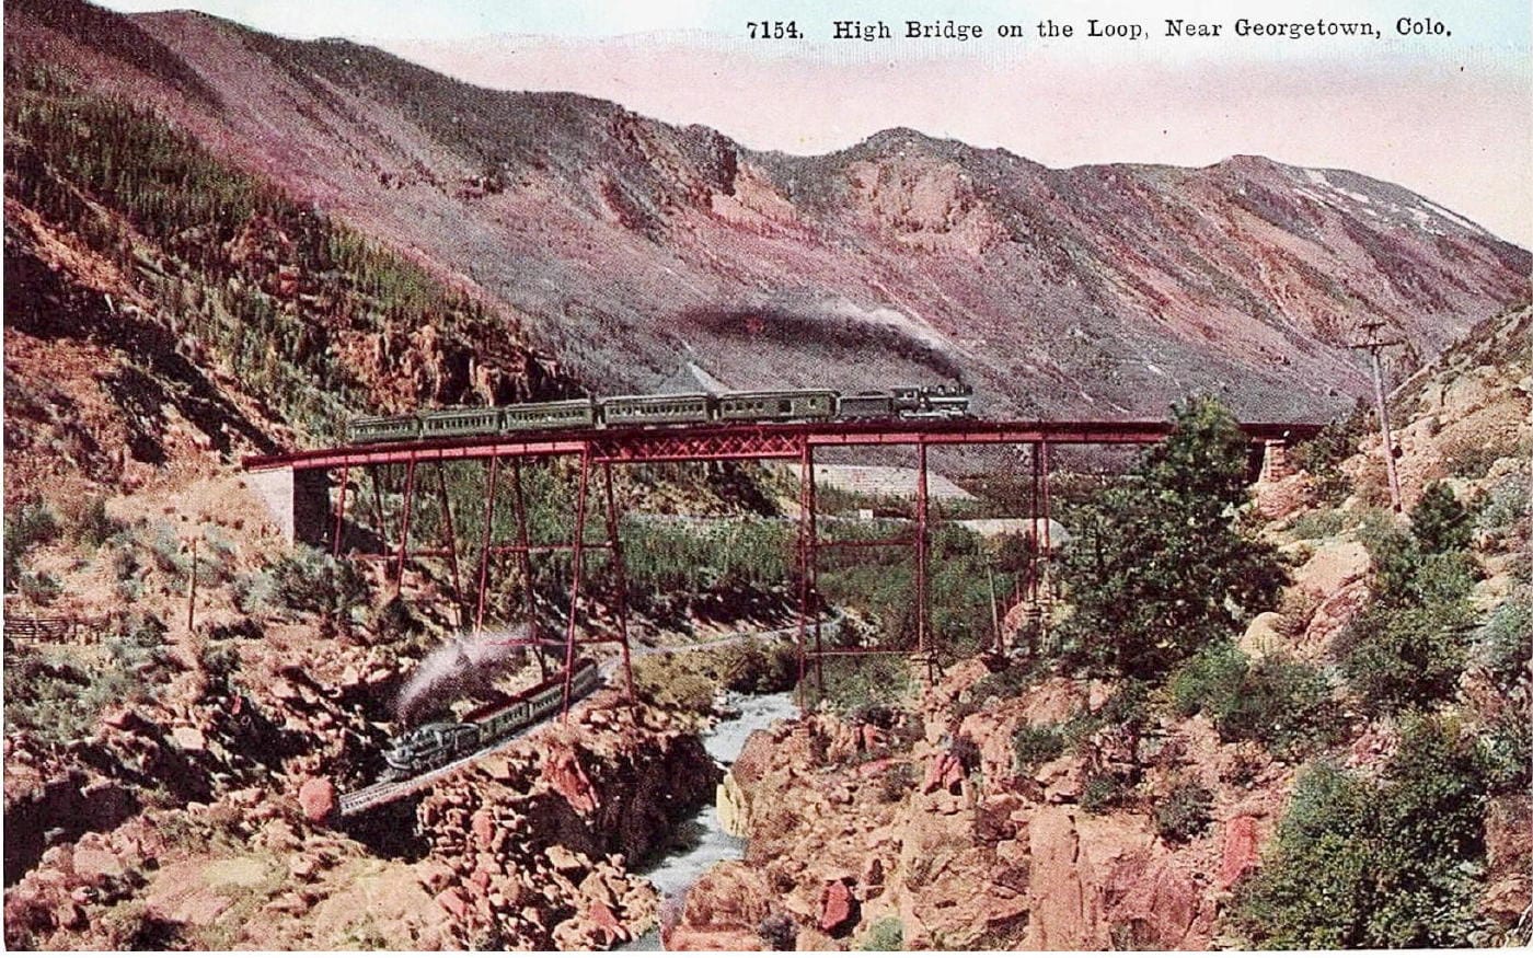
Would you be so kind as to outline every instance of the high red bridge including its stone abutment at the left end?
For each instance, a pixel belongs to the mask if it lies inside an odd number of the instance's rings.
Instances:
[[[1260,452],[1252,461],[1262,463],[1262,472],[1275,468],[1288,443],[1309,438],[1320,431],[1312,423],[1243,423],[1240,426],[1251,438],[1252,449]],[[1032,540],[1032,569],[1029,575],[1030,598],[1036,601],[1039,561],[1046,561],[1049,543],[1049,449],[1058,445],[1150,445],[1164,440],[1171,432],[1170,422],[986,422],[986,420],[885,420],[885,422],[819,422],[819,423],[710,423],[698,426],[653,426],[618,429],[564,429],[538,431],[506,435],[472,435],[457,438],[434,438],[425,441],[377,443],[371,446],[342,446],[311,449],[281,455],[254,455],[244,460],[251,486],[284,518],[285,532],[294,538],[327,546],[336,555],[351,555],[359,559],[383,561],[388,575],[400,587],[411,559],[445,559],[458,607],[463,609],[463,566],[474,563],[475,602],[474,628],[484,621],[484,598],[489,589],[492,558],[514,555],[518,564],[518,579],[523,582],[523,609],[530,612],[532,556],[547,552],[572,553],[570,607],[566,625],[564,661],[573,665],[576,647],[613,642],[622,650],[624,671],[629,676],[627,635],[627,584],[624,579],[622,546],[618,536],[618,503],[613,495],[613,466],[679,461],[725,461],[725,460],[789,460],[800,466],[799,535],[797,535],[797,586],[799,586],[799,674],[805,674],[806,662],[817,667],[823,656],[866,653],[904,653],[926,658],[931,668],[934,651],[927,615],[927,558],[929,558],[929,503],[927,503],[927,451],[932,446],[1027,446],[1032,460],[1032,517],[1035,535]],[[909,535],[866,541],[822,541],[816,515],[814,457],[816,451],[852,446],[906,446],[917,454],[915,521]],[[527,532],[527,509],[523,490],[521,466],[527,461],[572,457],[578,460],[578,483],[572,513],[573,530],[569,541],[533,543]],[[454,517],[448,497],[446,466],[449,463],[478,463],[483,471],[484,495],[481,515]],[[503,477],[509,466],[509,481]],[[602,526],[599,540],[587,541],[587,518],[590,512],[592,471],[599,468],[602,477]],[[423,478],[422,471],[426,471]],[[400,475],[402,474],[402,475]],[[431,483],[434,474],[435,483]],[[369,478],[371,503],[360,503],[362,486],[356,480]],[[434,486],[434,489],[431,487]],[[494,520],[503,486],[512,492],[515,513],[515,541],[495,541]],[[356,492],[356,495],[353,495]],[[388,507],[385,495],[388,497]],[[417,543],[414,526],[419,524],[417,500],[434,500],[437,543]],[[374,541],[382,543],[379,552],[362,552],[351,540],[356,523],[348,524],[348,509],[368,509],[373,518]],[[284,515],[285,510],[285,515]],[[412,517],[415,517],[412,523]],[[461,555],[458,547],[461,523],[468,520],[481,529],[478,555]],[[1041,524],[1039,524],[1041,523]],[[391,533],[392,527],[392,533]],[[348,530],[353,535],[348,540]],[[825,648],[820,636],[817,610],[817,553],[823,549],[855,549],[908,546],[915,563],[915,648]],[[583,555],[589,549],[607,550],[613,559],[616,610],[616,635],[581,636],[576,627],[581,602]],[[812,636],[812,648],[809,641]],[[570,671],[566,670],[566,690]],[[802,682],[800,682],[802,687]]]

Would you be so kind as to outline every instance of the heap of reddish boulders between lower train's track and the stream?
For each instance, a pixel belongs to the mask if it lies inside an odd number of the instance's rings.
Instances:
[[[696,734],[648,707],[598,694],[566,725],[464,768],[419,805],[438,903],[461,940],[593,949],[656,920],[653,886],[627,871],[711,797]]]

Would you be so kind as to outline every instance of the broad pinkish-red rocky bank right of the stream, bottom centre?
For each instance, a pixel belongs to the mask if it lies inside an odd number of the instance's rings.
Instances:
[[[1018,776],[1018,725],[1101,708],[1111,691],[1067,679],[966,714],[957,734],[980,753],[966,769],[949,745],[949,710],[986,674],[970,665],[952,668],[926,699],[924,736],[891,736],[877,762],[858,760],[857,725],[825,714],[751,736],[730,776],[745,858],[698,883],[668,941],[747,947],[760,920],[780,914],[800,947],[855,944],[881,918],[898,918],[915,949],[1210,947],[1220,895],[1257,864],[1291,776],[1269,769],[1229,785],[1242,748],[1222,745],[1202,717],[1148,740],[1104,728],[1082,746],[1088,759]],[[1147,809],[1088,812],[1082,782],[1104,769],[1144,776],[1147,796],[1197,779],[1216,794],[1216,820],[1170,845]],[[754,903],[765,889],[777,892]],[[740,895],[750,910],[724,904]]]

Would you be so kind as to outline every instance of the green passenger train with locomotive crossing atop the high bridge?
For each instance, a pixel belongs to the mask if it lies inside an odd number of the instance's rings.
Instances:
[[[346,423],[346,441],[392,443],[454,435],[494,435],[529,429],[601,429],[733,422],[817,422],[880,418],[958,418],[969,415],[967,386],[898,386],[888,391],[837,392],[783,389],[765,392],[676,392],[610,395],[515,406],[442,409],[414,415],[380,415]]]

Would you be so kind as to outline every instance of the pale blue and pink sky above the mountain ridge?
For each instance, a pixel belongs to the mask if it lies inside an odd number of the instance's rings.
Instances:
[[[1400,182],[1533,247],[1533,5],[1423,0],[109,0],[195,8],[297,38],[350,37],[481,86],[575,90],[745,146],[819,153],[891,126],[1001,146],[1053,167],[1205,166],[1234,153]],[[802,40],[750,40],[793,20]],[[1072,38],[1042,40],[1041,18]],[[1087,18],[1141,40],[1088,38]],[[1367,21],[1380,37],[1239,37],[1257,23]],[[1444,32],[1400,35],[1397,21]],[[834,20],[892,40],[832,40]],[[904,21],[977,23],[908,40]],[[1173,38],[1167,18],[1220,23]],[[1016,23],[1021,38],[996,35]]]

